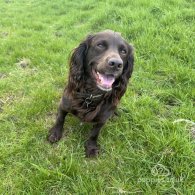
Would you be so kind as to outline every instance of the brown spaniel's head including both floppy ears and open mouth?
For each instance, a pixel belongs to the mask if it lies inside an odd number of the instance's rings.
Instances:
[[[133,61],[133,47],[119,33],[107,30],[89,35],[73,51],[69,82],[79,87],[80,82],[90,78],[102,91],[116,86],[126,88]]]

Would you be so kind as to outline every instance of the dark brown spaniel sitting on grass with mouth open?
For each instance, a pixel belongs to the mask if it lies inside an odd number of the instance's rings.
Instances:
[[[68,83],[56,122],[49,130],[49,142],[60,140],[65,117],[72,113],[93,124],[85,143],[86,157],[99,153],[97,139],[100,130],[113,115],[133,72],[133,50],[120,33],[111,30],[88,35],[73,50]]]

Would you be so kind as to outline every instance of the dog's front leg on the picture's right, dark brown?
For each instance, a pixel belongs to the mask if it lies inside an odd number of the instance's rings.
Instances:
[[[104,123],[97,123],[93,126],[89,139],[85,143],[86,157],[95,157],[99,153],[97,139],[103,125]]]

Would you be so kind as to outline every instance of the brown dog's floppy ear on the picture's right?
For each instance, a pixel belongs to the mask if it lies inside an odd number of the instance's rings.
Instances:
[[[120,100],[120,98],[124,95],[126,88],[127,88],[128,81],[129,81],[129,79],[132,75],[132,72],[133,72],[133,65],[134,65],[133,46],[128,45],[128,48],[129,48],[128,60],[127,60],[127,63],[124,65],[123,73],[120,76],[119,81],[115,87],[115,90],[116,90],[115,94],[116,94],[118,100]]]

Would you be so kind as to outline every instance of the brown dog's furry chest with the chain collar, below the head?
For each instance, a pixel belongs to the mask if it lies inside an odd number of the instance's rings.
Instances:
[[[68,96],[65,93],[62,105],[64,110],[67,110],[84,122],[104,122],[116,108],[112,103],[112,97],[104,94],[77,93],[74,96]]]

